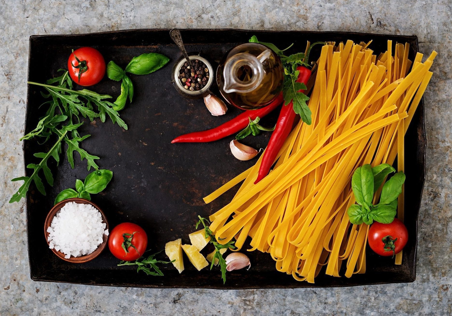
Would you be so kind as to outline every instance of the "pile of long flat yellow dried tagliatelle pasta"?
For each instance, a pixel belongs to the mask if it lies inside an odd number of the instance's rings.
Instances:
[[[209,203],[243,181],[232,201],[210,217],[219,243],[235,239],[239,250],[250,236],[248,250],[268,252],[278,271],[310,283],[324,266],[336,277],[343,265],[348,278],[366,271],[369,226],[349,222],[347,209],[355,203],[350,181],[357,167],[393,164],[397,155],[398,169],[404,169],[405,132],[436,56],[422,62],[418,53],[412,62],[408,44],[396,44],[393,52],[388,41],[377,57],[369,43],[323,46],[308,103],[312,124],[298,123],[262,181],[254,184],[259,159],[204,198]],[[401,220],[403,207],[402,193]]]

